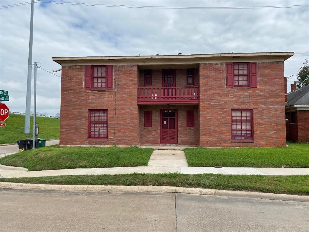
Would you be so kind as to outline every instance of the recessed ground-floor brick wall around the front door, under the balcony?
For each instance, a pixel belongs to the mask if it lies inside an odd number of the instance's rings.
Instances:
[[[139,107],[139,129],[141,144],[159,144],[160,143],[160,109],[177,110],[178,116],[178,144],[198,145],[198,105],[171,105],[169,107],[162,105],[140,105]],[[152,127],[144,128],[144,110],[152,111]],[[194,128],[187,128],[187,110],[194,110]]]

